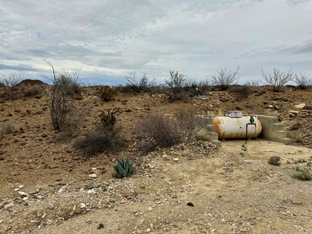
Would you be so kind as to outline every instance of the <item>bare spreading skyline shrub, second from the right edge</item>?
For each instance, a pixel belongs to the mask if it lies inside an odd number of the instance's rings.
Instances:
[[[288,71],[280,71],[275,68],[271,71],[262,71],[262,77],[267,85],[270,85],[274,92],[280,92],[282,87],[291,81],[295,74],[295,71],[290,68]]]

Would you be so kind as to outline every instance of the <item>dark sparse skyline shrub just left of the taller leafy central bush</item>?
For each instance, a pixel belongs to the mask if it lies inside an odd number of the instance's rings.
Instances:
[[[130,71],[130,76],[124,77],[126,79],[126,84],[122,89],[124,92],[150,92],[150,88],[157,85],[155,78],[150,80],[146,73],[139,80],[135,78],[135,75],[136,71]]]

